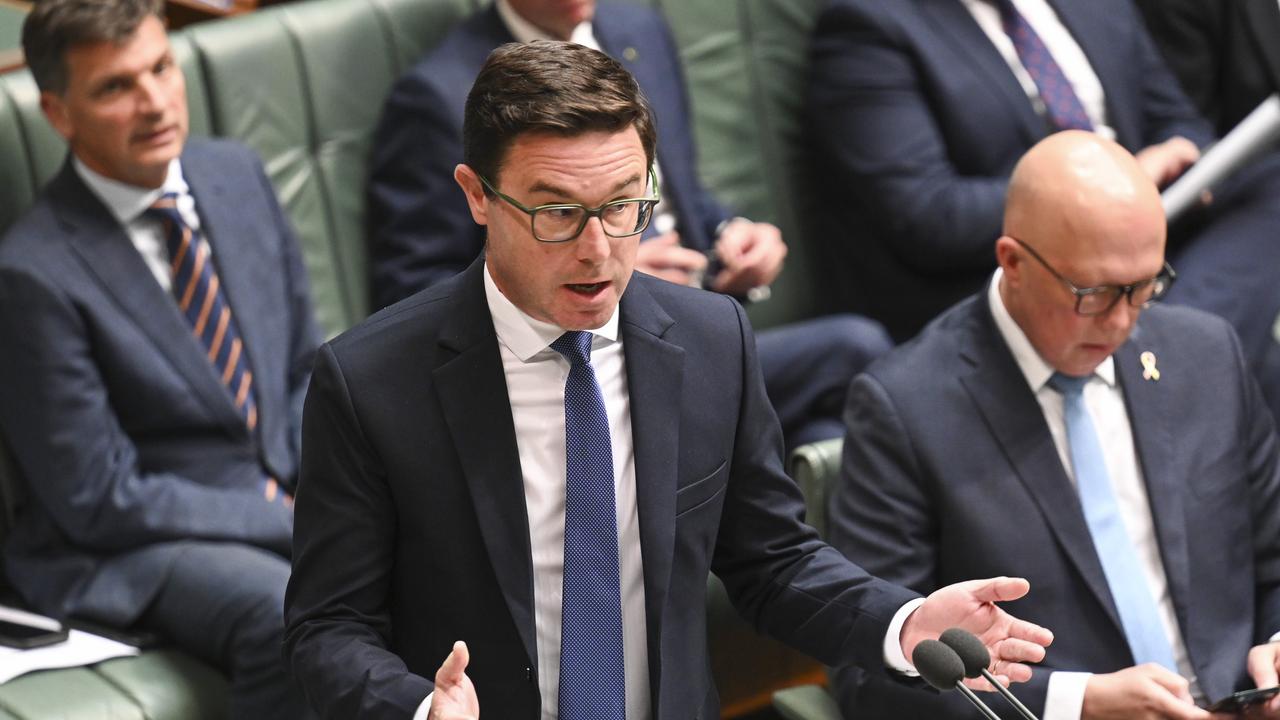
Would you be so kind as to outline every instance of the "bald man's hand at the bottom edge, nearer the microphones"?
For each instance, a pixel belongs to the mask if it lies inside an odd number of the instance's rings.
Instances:
[[[1093,675],[1084,691],[1082,720],[1210,720],[1196,707],[1187,680],[1148,662],[1117,673]]]

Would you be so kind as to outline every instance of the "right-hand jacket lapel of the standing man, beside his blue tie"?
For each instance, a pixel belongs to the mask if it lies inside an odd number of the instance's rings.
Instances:
[[[680,456],[685,351],[662,338],[675,320],[632,277],[622,297],[622,342],[635,445],[636,506],[644,557],[650,688],[657,705],[662,670],[662,610],[671,585],[676,542],[676,482]]]

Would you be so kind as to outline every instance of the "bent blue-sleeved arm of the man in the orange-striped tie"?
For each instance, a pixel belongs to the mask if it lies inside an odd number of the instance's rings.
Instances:
[[[0,375],[10,378],[0,383],[0,424],[61,532],[104,552],[202,538],[288,555],[292,512],[283,498],[266,498],[268,478],[252,457],[227,462],[225,477],[209,482],[140,469],[87,323],[55,283],[0,270]]]

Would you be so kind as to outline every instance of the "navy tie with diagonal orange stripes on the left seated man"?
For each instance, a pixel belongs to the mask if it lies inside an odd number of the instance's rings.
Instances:
[[[145,215],[164,227],[169,247],[169,272],[178,309],[191,332],[200,340],[205,355],[232,395],[236,409],[252,430],[257,427],[257,404],[253,401],[253,373],[244,356],[244,342],[232,318],[232,306],[223,295],[218,272],[209,254],[209,243],[192,229],[178,211],[178,195],[165,193]]]

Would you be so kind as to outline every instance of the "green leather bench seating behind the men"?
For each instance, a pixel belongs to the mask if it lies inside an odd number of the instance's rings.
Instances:
[[[787,270],[773,299],[749,309],[760,327],[818,314],[813,254],[803,241],[800,104],[815,0],[643,1],[667,14],[681,45],[704,181],[744,215],[778,224]],[[486,0],[311,0],[174,35],[193,135],[230,136],[262,158],[302,243],[328,336],[369,311],[366,155],[392,82]],[[56,173],[65,145],[40,114],[27,72],[0,74],[0,233]],[[0,530],[20,486],[0,447]],[[0,534],[3,537],[3,534]],[[768,692],[812,661],[758,638],[710,580],[709,633],[726,708]],[[45,671],[0,685],[0,720],[220,717],[225,684],[173,651],[91,669]]]

